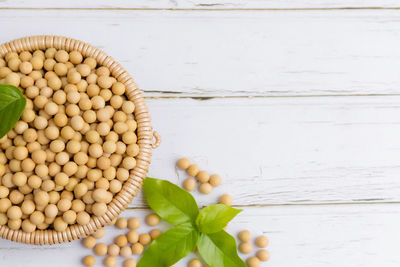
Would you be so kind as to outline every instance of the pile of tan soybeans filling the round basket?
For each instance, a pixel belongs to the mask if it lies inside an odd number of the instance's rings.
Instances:
[[[102,216],[139,153],[125,86],[78,51],[7,53],[0,83],[26,108],[0,139],[0,225],[64,231]]]

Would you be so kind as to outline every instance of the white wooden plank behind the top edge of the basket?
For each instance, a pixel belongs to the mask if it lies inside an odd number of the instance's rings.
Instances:
[[[400,87],[400,21],[391,10],[0,10],[0,24],[0,42],[46,33],[99,46],[154,97],[391,95]]]

